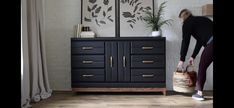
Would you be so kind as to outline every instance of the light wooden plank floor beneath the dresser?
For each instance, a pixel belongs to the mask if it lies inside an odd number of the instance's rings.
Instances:
[[[33,108],[213,108],[213,93],[205,92],[205,101],[191,94],[162,93],[72,93],[54,92]]]

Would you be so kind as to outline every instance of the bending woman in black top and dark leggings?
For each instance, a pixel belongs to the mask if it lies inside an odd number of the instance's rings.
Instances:
[[[185,57],[189,48],[190,38],[193,36],[197,42],[193,54],[189,59],[189,63],[194,63],[194,59],[202,46],[204,47],[204,50],[199,63],[196,83],[197,92],[192,96],[192,98],[195,100],[204,100],[202,91],[206,81],[206,70],[213,62],[213,22],[206,17],[193,16],[188,9],[181,10],[179,18],[183,20],[183,39],[180,51],[180,61],[177,67],[183,68]]]

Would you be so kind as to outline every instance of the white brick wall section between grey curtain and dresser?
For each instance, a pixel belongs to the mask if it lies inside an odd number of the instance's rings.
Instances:
[[[46,53],[53,90],[71,89],[70,38],[80,23],[81,0],[45,0]]]

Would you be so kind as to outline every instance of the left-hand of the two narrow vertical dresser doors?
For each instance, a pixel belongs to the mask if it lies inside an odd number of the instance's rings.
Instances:
[[[106,81],[116,82],[117,81],[117,42],[106,42],[105,43],[105,54],[106,54]]]

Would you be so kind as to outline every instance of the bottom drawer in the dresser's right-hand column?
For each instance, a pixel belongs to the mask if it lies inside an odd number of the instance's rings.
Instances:
[[[132,82],[164,82],[164,69],[132,69]]]

